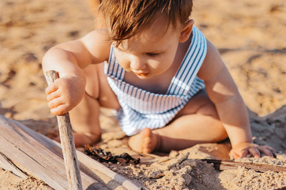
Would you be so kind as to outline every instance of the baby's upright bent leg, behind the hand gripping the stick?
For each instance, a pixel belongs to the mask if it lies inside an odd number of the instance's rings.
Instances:
[[[103,63],[91,65],[84,71],[87,78],[85,95],[80,104],[69,112],[76,147],[100,141],[100,106],[119,108],[117,98],[107,84]]]

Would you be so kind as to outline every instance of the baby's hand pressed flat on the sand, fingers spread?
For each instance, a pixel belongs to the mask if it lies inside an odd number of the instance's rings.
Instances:
[[[230,150],[230,158],[243,158],[245,156],[248,156],[248,154],[254,156],[254,158],[260,158],[261,153],[273,158],[274,152],[275,150],[267,145],[259,146],[254,143],[240,143],[238,145],[235,145],[235,147]]]

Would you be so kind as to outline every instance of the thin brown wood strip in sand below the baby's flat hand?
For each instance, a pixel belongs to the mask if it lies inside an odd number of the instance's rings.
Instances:
[[[227,169],[237,169],[238,167],[245,167],[247,169],[254,169],[255,171],[286,171],[286,167],[281,167],[277,165],[265,165],[259,163],[241,163],[237,161],[222,161],[222,160],[212,160],[212,159],[202,159],[201,161],[206,161],[207,163],[212,163],[215,169],[227,170]]]

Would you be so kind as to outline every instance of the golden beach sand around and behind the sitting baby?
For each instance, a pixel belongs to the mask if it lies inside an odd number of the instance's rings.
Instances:
[[[94,29],[86,1],[0,1],[0,114],[41,134],[58,135],[45,101],[41,59],[53,45]],[[270,145],[277,158],[240,161],[286,165],[286,5],[284,0],[194,1],[192,18],[219,49],[248,106],[255,143]],[[102,109],[100,147],[128,152],[139,165],[106,163],[113,171],[148,189],[278,189],[286,173],[253,169],[217,171],[197,159],[228,159],[230,143],[196,145],[170,154],[138,155],[113,117]],[[21,179],[0,168],[0,189],[50,189],[33,176]]]

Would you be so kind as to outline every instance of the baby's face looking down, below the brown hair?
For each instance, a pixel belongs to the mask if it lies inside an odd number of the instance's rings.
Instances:
[[[120,66],[140,79],[167,71],[176,55],[179,32],[172,26],[165,28],[162,23],[154,23],[140,34],[123,40],[117,48],[113,46]]]

